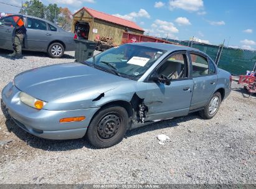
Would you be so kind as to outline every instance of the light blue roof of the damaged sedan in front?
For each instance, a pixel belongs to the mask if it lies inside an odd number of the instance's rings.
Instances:
[[[160,50],[167,50],[170,52],[173,52],[176,50],[191,50],[191,51],[201,52],[200,50],[197,50],[196,48],[186,47],[183,45],[164,44],[164,43],[156,43],[156,42],[138,42],[138,43],[133,43],[133,45],[158,48]]]

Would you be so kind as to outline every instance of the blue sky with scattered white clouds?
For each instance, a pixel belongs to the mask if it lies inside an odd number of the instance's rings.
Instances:
[[[0,0],[21,6],[19,0]],[[136,22],[145,34],[256,49],[256,0],[42,0],[75,12],[83,6]],[[0,4],[0,12],[19,8]]]

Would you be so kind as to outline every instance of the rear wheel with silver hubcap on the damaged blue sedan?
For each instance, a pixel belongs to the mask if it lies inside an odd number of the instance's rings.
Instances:
[[[204,119],[212,119],[219,110],[221,100],[221,94],[219,92],[214,93],[206,107],[199,111],[200,116]]]

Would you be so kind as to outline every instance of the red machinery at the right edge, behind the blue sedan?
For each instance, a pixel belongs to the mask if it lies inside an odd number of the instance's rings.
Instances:
[[[256,93],[256,75],[255,71],[247,71],[248,75],[240,75],[238,83],[244,85],[245,90],[250,94]]]

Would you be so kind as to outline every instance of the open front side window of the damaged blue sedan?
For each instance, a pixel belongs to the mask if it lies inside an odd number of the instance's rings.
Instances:
[[[160,68],[158,75],[167,76],[169,79],[177,80],[187,77],[187,58],[186,54],[179,53],[166,60]]]

